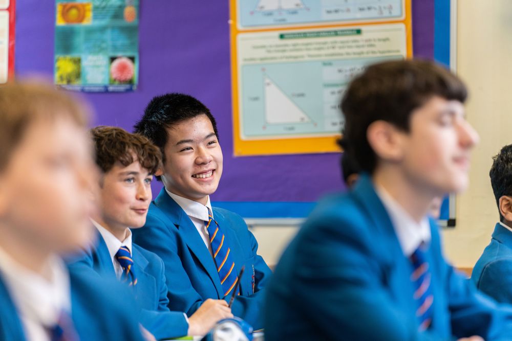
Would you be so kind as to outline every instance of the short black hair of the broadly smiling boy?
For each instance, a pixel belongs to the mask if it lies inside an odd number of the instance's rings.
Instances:
[[[210,110],[196,98],[184,94],[165,94],[154,97],[144,110],[144,115],[134,126],[134,132],[150,139],[162,152],[162,162],[165,162],[164,148],[167,143],[167,128],[173,124],[206,115],[217,132],[217,122]],[[158,177],[157,177],[158,178]]]

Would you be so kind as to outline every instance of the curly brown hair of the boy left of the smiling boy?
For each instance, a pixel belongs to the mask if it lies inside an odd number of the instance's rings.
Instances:
[[[109,126],[97,126],[90,133],[96,152],[96,164],[103,173],[110,171],[117,162],[127,167],[138,161],[151,174],[160,165],[160,149],[140,134]]]

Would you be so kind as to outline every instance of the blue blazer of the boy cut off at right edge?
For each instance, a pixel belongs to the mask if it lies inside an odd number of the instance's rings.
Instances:
[[[498,302],[512,303],[512,232],[499,223],[475,264],[471,279],[479,290]]]

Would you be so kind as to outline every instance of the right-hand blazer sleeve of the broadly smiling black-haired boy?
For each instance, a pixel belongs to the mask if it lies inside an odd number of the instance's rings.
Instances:
[[[242,247],[246,247],[250,256],[245,260],[245,271],[242,280],[254,290],[249,295],[239,295],[233,301],[231,312],[247,321],[254,329],[263,328],[263,304],[265,295],[265,285],[272,274],[263,257],[258,255],[258,241],[247,228],[247,224],[239,215],[233,214],[234,223],[242,227],[241,231],[245,235],[245,242]],[[244,245],[245,244],[245,245]],[[230,297],[226,298],[229,303]]]

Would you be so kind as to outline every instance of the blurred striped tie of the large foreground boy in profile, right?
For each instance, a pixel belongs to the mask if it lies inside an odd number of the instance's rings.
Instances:
[[[416,251],[411,255],[411,262],[413,263],[413,273],[411,281],[414,284],[414,299],[418,304],[416,309],[416,317],[419,322],[419,331],[424,331],[432,324],[432,313],[434,296],[430,286],[432,275],[429,269],[429,263],[425,257],[425,247],[420,245]]]

